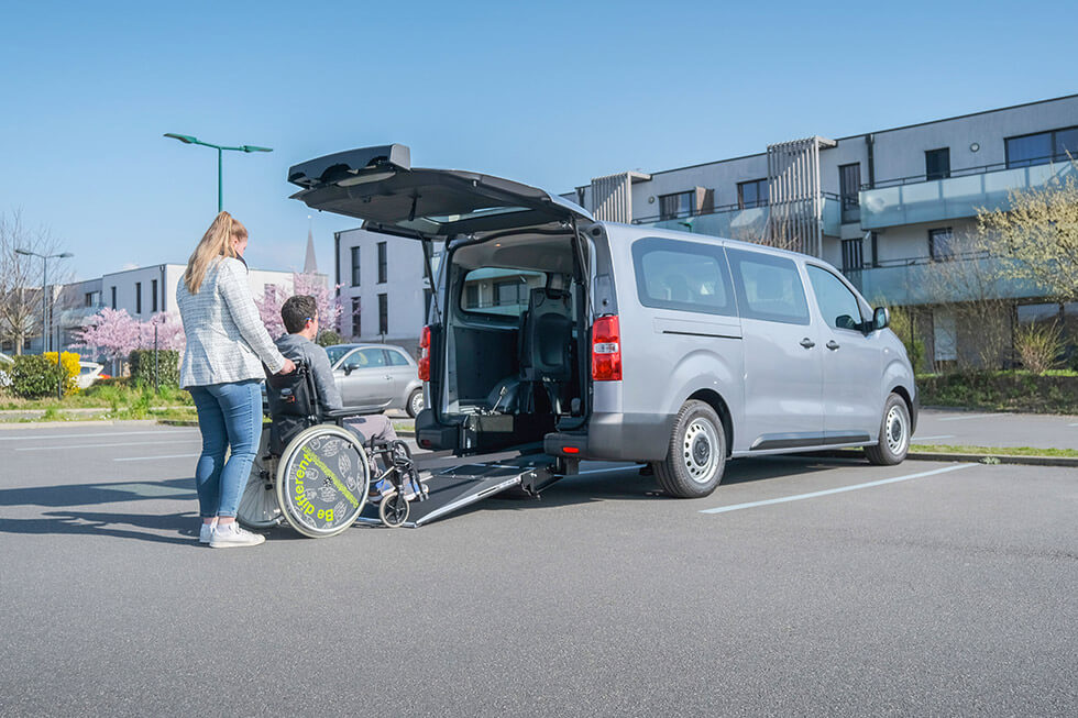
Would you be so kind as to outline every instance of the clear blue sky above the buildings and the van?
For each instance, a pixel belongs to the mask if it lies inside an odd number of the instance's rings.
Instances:
[[[186,262],[224,205],[300,268],[290,165],[400,142],[413,164],[553,191],[1078,91],[1074,2],[8,3],[0,211],[82,278]],[[319,265],[355,221],[315,214]]]

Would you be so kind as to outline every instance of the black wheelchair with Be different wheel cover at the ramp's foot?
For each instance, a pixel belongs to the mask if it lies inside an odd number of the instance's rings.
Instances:
[[[296,362],[292,374],[266,372],[271,423],[264,427],[237,520],[249,529],[287,523],[321,539],[344,531],[381,491],[378,518],[396,528],[408,520],[411,500],[425,500],[411,451],[403,441],[362,442],[344,422],[372,413],[344,408],[322,411],[310,368]]]

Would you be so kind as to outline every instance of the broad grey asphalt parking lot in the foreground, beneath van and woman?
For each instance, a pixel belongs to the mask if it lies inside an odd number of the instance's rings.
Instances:
[[[743,460],[675,500],[585,464],[421,529],[219,551],[197,450],[0,432],[0,715],[1078,710],[1078,470]]]

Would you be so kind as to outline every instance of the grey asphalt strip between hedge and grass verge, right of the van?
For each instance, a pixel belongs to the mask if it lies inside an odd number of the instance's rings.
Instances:
[[[922,409],[913,443],[1078,449],[1078,417]]]

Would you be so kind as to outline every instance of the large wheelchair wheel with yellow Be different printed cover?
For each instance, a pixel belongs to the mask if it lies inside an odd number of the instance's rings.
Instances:
[[[306,537],[344,531],[366,504],[370,467],[352,432],[333,424],[300,431],[277,463],[277,502],[285,520]]]

